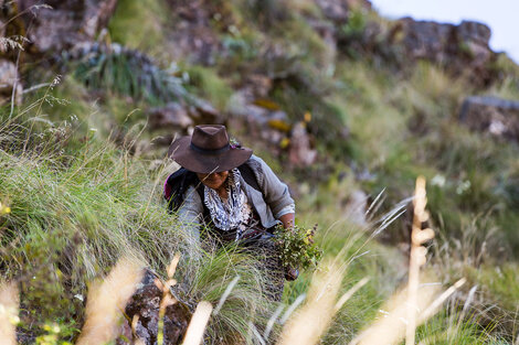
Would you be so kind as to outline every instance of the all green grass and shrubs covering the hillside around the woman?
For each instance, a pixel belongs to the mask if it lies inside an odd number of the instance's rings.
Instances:
[[[1,109],[0,267],[21,285],[20,332],[73,342],[85,317],[78,297],[123,254],[162,274],[180,252],[174,279],[190,306],[216,305],[240,277],[211,319],[213,343],[251,341],[250,324],[265,326],[275,305],[261,293],[254,258],[199,248],[167,214],[161,184],[174,166],[165,148],[150,144],[157,132],[146,125],[149,108],[194,97],[226,116],[231,97],[257,74],[272,82],[262,100],[290,123],[304,121],[319,153],[316,166],[295,174],[285,171],[286,151],[280,159],[261,153],[297,192],[298,225],[319,225],[316,244],[346,272],[339,295],[370,279],[337,312],[322,343],[345,344],[384,317],[384,301],[405,284],[409,197],[420,174],[428,181],[428,226],[436,231],[428,258],[434,281],[447,288],[465,277],[467,283],[419,327],[417,341],[517,343],[519,145],[468,130],[458,110],[467,95],[519,99],[519,68],[500,56],[494,68],[504,77],[477,89],[427,62],[396,71],[354,45],[336,53],[309,24],[324,19],[314,2],[205,6],[223,50],[213,64],[170,61],[166,2],[119,1],[109,37],[124,48],[71,61],[61,83],[27,95],[12,116]],[[389,25],[356,10],[339,33],[360,40],[370,21]],[[368,214],[349,204],[359,191]],[[311,278],[301,272],[286,284],[284,311]]]

